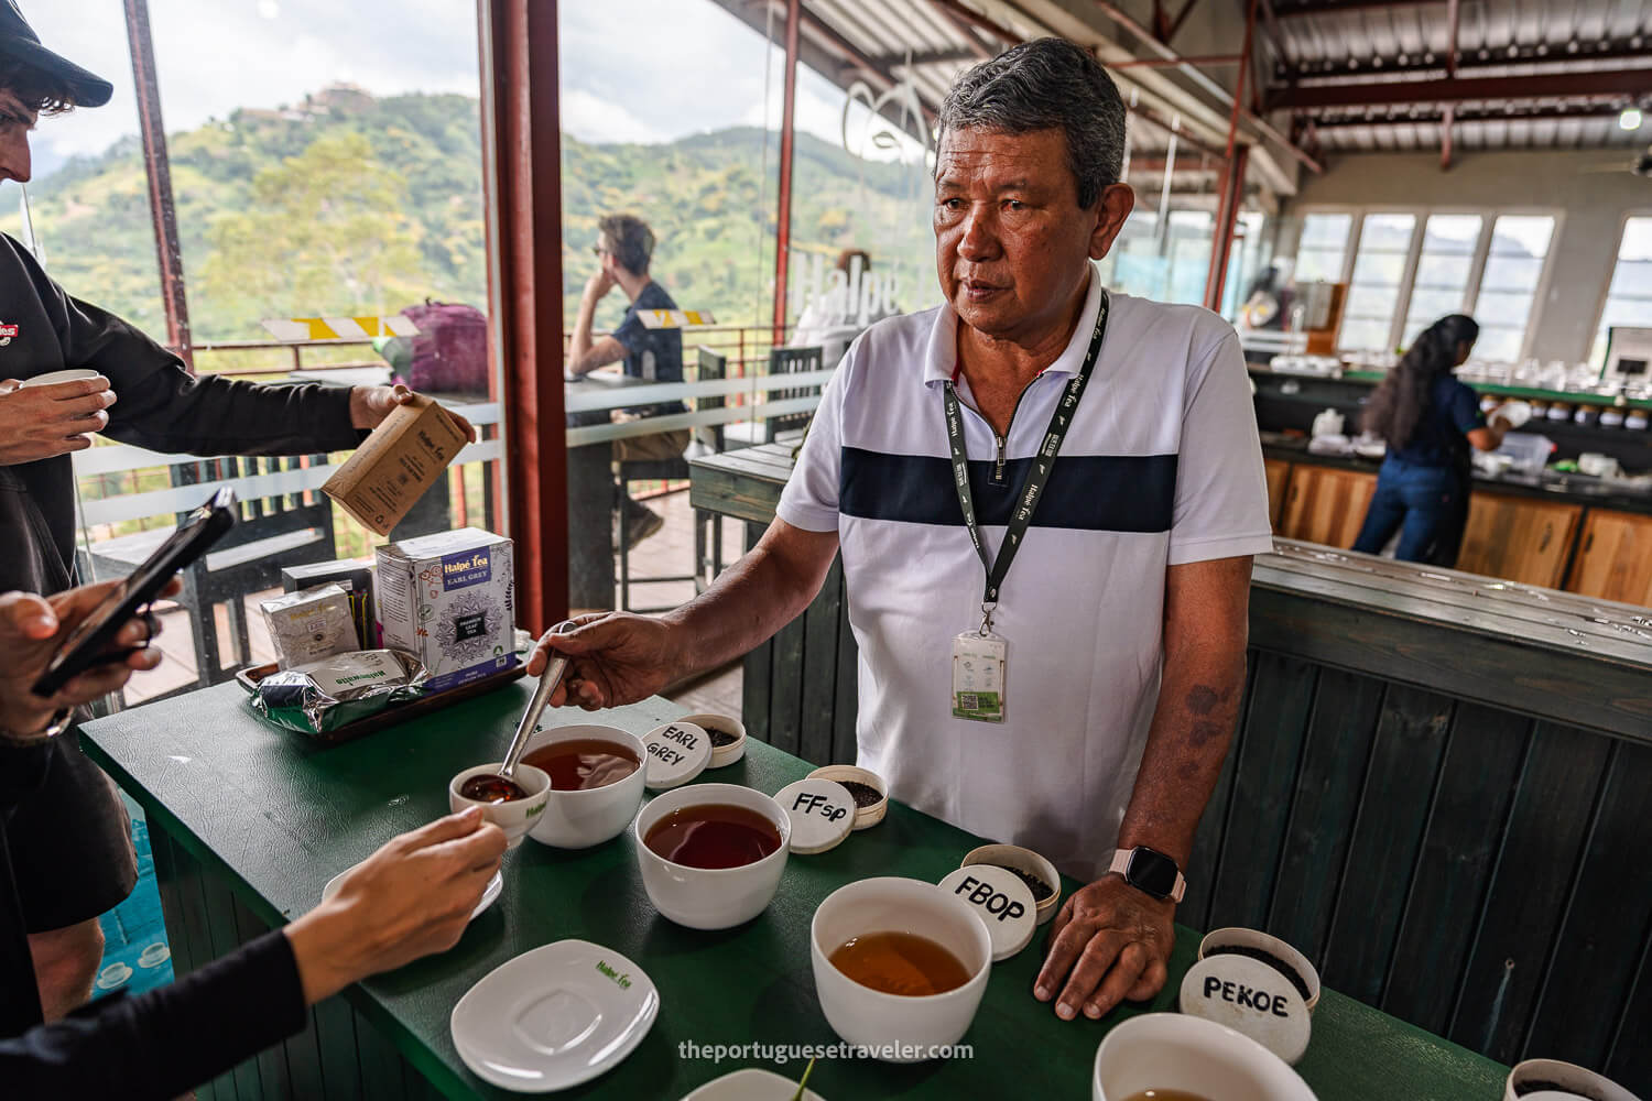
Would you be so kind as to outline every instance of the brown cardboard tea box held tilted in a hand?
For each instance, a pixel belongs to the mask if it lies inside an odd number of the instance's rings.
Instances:
[[[453,418],[416,395],[396,406],[320,489],[358,522],[390,535],[464,444]]]

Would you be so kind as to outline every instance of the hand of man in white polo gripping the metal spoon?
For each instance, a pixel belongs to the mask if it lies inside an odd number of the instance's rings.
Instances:
[[[578,631],[570,634],[545,632],[527,660],[527,675],[539,677],[552,650],[567,655],[568,669],[550,697],[552,706],[577,703],[598,711],[646,700],[672,682],[679,645],[664,621],[596,612],[573,622]]]

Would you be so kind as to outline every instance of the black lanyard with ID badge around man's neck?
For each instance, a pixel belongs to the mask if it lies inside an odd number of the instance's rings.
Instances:
[[[1003,723],[1008,703],[1006,677],[1009,672],[1009,640],[993,631],[993,611],[998,607],[998,591],[1009,574],[1009,563],[1014,561],[1028,528],[1032,525],[1032,513],[1037,508],[1039,495],[1049,482],[1049,472],[1056,465],[1056,456],[1067,437],[1079,398],[1090,381],[1090,371],[1102,352],[1102,337],[1107,333],[1107,292],[1102,291],[1102,304],[1095,312],[1095,330],[1090,333],[1090,348],[1084,357],[1079,373],[1067,383],[1061,403],[1049,418],[1049,429],[1037,454],[1028,464],[1026,479],[1016,495],[1014,512],[1004,528],[1004,541],[998,548],[998,556],[988,556],[986,543],[981,540],[981,528],[975,518],[975,495],[970,490],[970,457],[963,441],[963,414],[958,403],[958,391],[948,381],[945,385],[947,399],[947,439],[952,451],[953,487],[958,490],[958,505],[963,508],[963,525],[975,543],[975,553],[986,568],[986,589],[981,594],[981,626],[978,631],[965,631],[952,640],[952,713],[957,718],[968,718],[981,723]]]

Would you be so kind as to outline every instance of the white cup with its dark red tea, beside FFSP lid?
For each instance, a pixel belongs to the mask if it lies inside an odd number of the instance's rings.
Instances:
[[[643,890],[691,929],[729,929],[763,913],[790,847],[780,804],[738,784],[676,787],[636,815]]]

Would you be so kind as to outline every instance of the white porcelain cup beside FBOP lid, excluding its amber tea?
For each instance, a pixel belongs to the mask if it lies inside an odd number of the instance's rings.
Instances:
[[[838,971],[831,954],[851,938],[871,933],[928,938],[963,962],[970,981],[955,990],[927,995],[885,994],[861,985]],[[809,962],[821,1012],[833,1032],[890,1063],[917,1063],[930,1058],[922,1048],[953,1045],[970,1030],[993,967],[993,941],[970,905],[938,885],[877,877],[839,886],[814,910]],[[900,1047],[912,1050],[900,1051]]]

